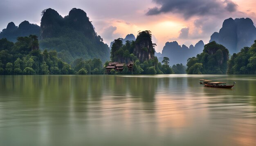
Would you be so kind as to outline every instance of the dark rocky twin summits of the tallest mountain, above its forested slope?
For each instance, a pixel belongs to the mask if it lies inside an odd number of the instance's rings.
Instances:
[[[82,32],[87,38],[94,38],[96,33],[85,11],[73,8],[65,18],[54,9],[46,9],[41,19],[41,39],[60,35],[66,28]]]

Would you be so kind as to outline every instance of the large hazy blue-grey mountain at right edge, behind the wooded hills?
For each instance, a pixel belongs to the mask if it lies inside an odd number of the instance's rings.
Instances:
[[[245,46],[251,46],[256,40],[256,28],[250,18],[226,19],[219,32],[211,35],[211,40],[222,44],[232,55]]]

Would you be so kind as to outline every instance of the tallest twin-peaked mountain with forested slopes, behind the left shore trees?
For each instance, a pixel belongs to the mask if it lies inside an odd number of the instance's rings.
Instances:
[[[100,58],[106,62],[110,58],[108,45],[81,9],[73,8],[64,18],[54,9],[44,10],[40,33],[40,48],[58,51],[58,57],[65,62],[76,58]]]

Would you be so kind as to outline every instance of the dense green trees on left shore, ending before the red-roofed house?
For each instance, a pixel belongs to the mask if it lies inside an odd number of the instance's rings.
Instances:
[[[18,37],[17,42],[0,40],[0,75],[102,74],[100,59],[74,60],[73,66],[57,57],[56,51],[39,49],[35,35]]]

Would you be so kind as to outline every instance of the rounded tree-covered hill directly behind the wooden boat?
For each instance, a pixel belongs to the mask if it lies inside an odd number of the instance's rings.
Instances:
[[[187,74],[223,74],[227,72],[229,51],[215,41],[204,45],[204,50],[196,57],[189,58]]]

